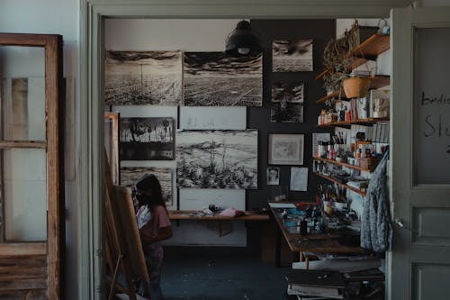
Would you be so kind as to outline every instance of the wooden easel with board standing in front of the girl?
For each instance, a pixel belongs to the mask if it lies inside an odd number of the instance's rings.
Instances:
[[[108,299],[111,300],[117,288],[125,292],[130,300],[136,300],[135,282],[149,283],[147,265],[139,237],[138,223],[130,190],[123,186],[113,186],[111,168],[106,151],[105,169],[105,233],[106,260],[112,274]],[[126,286],[121,286],[117,277],[125,278]]]

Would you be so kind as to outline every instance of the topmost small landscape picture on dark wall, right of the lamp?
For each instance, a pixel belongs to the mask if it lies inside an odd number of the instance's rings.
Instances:
[[[272,42],[274,72],[312,71],[312,40],[278,40]]]

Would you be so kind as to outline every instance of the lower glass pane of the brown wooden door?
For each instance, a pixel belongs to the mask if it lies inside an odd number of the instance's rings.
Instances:
[[[4,240],[47,239],[46,152],[41,149],[2,151]]]

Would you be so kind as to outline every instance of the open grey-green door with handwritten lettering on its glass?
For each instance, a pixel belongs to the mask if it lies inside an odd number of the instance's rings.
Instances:
[[[450,299],[450,7],[392,11],[387,298]]]

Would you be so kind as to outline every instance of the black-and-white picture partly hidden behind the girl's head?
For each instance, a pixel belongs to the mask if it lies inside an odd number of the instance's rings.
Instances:
[[[157,167],[121,167],[121,186],[134,186],[144,174],[153,174],[159,180],[166,206],[174,205],[173,170]]]

